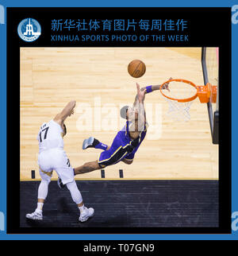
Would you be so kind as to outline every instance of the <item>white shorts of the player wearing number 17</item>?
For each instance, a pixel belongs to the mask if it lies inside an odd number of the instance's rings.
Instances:
[[[56,171],[63,184],[74,180],[75,174],[63,149],[48,149],[39,153],[38,165],[43,180],[50,180],[53,170]]]

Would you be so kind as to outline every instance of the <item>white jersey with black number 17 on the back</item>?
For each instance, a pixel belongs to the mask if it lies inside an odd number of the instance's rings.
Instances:
[[[37,135],[39,153],[48,149],[63,149],[63,129],[57,122],[51,120],[40,126]]]

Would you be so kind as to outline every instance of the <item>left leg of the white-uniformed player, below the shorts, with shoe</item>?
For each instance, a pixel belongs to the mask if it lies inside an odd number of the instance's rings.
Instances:
[[[43,206],[44,206],[44,200],[48,196],[48,184],[51,182],[52,178],[52,170],[48,170],[47,172],[44,172],[42,169],[39,170],[41,181],[38,188],[38,200],[37,200],[37,207],[36,210],[33,213],[29,213],[26,216],[28,219],[43,219]]]

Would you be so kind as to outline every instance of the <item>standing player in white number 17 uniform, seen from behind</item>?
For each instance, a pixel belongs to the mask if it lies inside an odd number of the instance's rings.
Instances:
[[[75,101],[67,103],[63,111],[56,115],[50,122],[45,122],[41,127],[37,140],[39,142],[38,165],[41,176],[38,188],[37,208],[33,213],[27,214],[28,219],[43,219],[42,209],[44,200],[48,195],[48,184],[51,182],[52,172],[56,171],[63,184],[71,192],[72,200],[78,205],[80,216],[79,221],[85,222],[94,215],[94,208],[86,208],[79,188],[75,183],[74,169],[63,150],[63,136],[67,130],[64,121],[74,114]]]

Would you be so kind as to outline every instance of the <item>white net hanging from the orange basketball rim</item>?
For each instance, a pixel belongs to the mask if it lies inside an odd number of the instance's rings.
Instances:
[[[187,99],[194,96],[197,93],[197,89],[188,83],[172,81],[168,85],[168,90],[163,89],[163,94],[173,99]],[[167,115],[176,121],[189,121],[190,120],[190,106],[193,101],[186,103],[180,103],[177,100],[168,99],[165,97],[168,103]]]

